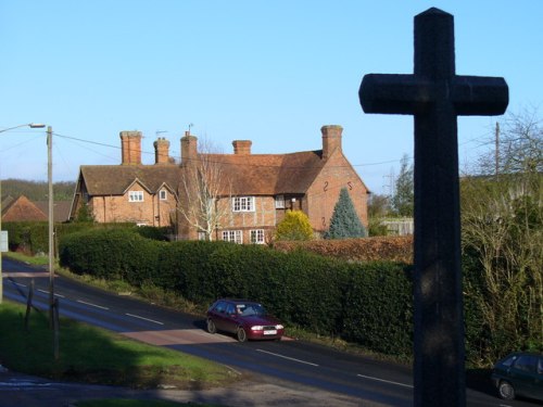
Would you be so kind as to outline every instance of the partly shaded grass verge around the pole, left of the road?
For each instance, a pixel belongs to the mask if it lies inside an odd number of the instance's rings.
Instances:
[[[132,389],[201,390],[241,379],[213,361],[67,318],[60,321],[60,355],[55,360],[48,313],[33,309],[26,331],[25,310],[10,301],[0,305],[0,364],[14,371]]]

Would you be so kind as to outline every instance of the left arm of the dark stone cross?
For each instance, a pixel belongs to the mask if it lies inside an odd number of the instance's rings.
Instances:
[[[434,89],[415,75],[368,74],[358,97],[365,113],[416,114],[434,100]]]

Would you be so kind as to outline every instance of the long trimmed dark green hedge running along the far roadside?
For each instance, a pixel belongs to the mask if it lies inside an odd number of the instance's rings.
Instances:
[[[96,229],[64,236],[61,265],[78,274],[147,282],[197,304],[247,297],[266,304],[287,326],[341,336],[376,352],[408,356],[413,347],[413,266],[349,263],[294,250],[227,242],[153,241],[134,229]],[[467,257],[466,267],[477,267]],[[470,278],[477,276],[471,272]],[[471,284],[472,285],[472,284]],[[479,365],[492,343],[478,296],[466,292],[466,356]],[[494,349],[496,351],[496,349]]]

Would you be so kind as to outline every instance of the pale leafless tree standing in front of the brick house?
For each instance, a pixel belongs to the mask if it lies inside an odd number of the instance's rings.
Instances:
[[[198,158],[182,167],[179,213],[189,228],[213,240],[229,215],[231,181],[216,147],[206,139],[199,144]]]

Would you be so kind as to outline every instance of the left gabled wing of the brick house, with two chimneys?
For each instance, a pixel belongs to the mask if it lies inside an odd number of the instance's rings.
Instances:
[[[121,165],[80,166],[70,218],[86,204],[98,222],[173,225],[181,168],[169,161],[169,141],[157,139],[155,163],[144,165],[141,131],[122,131],[121,140]]]

